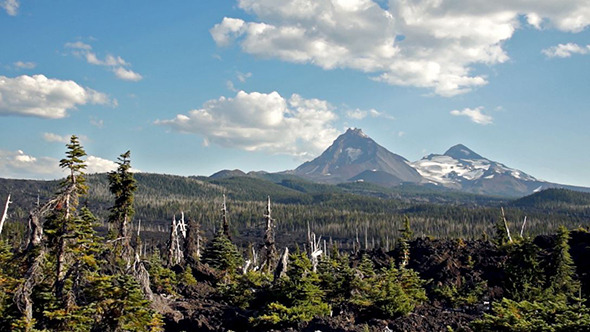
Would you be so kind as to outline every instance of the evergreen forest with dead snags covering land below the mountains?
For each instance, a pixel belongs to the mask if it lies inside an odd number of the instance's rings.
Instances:
[[[590,330],[588,194],[163,176],[129,151],[86,175],[66,148],[64,180],[0,183],[1,331]]]

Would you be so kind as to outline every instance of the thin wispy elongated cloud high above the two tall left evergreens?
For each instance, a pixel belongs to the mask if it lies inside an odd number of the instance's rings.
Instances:
[[[120,56],[107,54],[104,59],[100,59],[92,51],[92,46],[81,41],[66,43],[65,47],[70,49],[72,54],[86,59],[91,65],[109,68],[121,80],[137,82],[143,79],[141,74],[129,69],[131,64]]]

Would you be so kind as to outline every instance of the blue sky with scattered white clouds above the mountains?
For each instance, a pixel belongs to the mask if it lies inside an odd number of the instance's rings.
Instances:
[[[0,177],[294,169],[349,127],[590,187],[588,0],[0,0]]]

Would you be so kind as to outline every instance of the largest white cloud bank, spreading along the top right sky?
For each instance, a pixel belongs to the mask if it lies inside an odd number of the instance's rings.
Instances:
[[[442,96],[487,84],[476,64],[509,59],[503,42],[525,17],[533,28],[580,32],[590,3],[572,1],[238,0],[255,22],[225,17],[211,30],[219,46],[324,69],[350,68],[393,85]],[[385,7],[385,8],[384,8]]]

